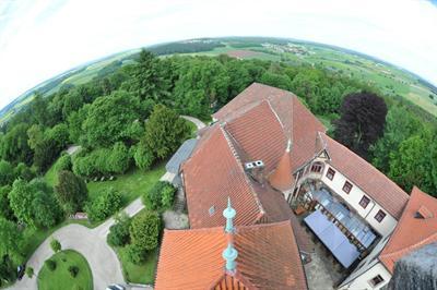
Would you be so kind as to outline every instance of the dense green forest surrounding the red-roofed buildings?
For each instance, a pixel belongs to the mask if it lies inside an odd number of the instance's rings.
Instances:
[[[405,191],[418,185],[437,193],[436,123],[410,102],[318,67],[142,51],[86,84],[44,98],[36,94],[1,128],[1,279],[10,280],[10,265],[24,258],[23,227],[51,228],[78,210],[95,220],[110,216],[105,209],[118,209],[122,197],[106,192],[90,202],[84,181],[165,160],[191,134],[179,114],[209,120],[252,82],[295,93],[331,121],[330,134]],[[71,144],[81,146],[72,157],[64,153]],[[59,180],[52,188],[42,176],[56,160]]]

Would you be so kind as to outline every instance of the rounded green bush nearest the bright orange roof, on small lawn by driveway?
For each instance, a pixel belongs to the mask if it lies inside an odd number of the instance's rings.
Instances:
[[[161,230],[160,216],[154,212],[141,212],[132,218],[130,239],[133,246],[144,251],[156,249]]]

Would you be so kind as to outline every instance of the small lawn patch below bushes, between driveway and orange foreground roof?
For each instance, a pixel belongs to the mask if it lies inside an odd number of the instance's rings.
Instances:
[[[133,283],[153,283],[157,262],[157,250],[147,253],[146,261],[141,265],[129,262],[125,247],[116,249],[120,259],[125,279]]]

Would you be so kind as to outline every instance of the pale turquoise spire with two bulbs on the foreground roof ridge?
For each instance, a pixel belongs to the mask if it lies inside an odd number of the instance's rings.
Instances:
[[[223,251],[223,258],[226,261],[226,270],[234,273],[236,269],[235,259],[238,256],[238,251],[234,247],[233,234],[235,232],[233,219],[237,213],[231,205],[231,198],[227,197],[227,207],[223,210],[223,216],[226,218],[225,232],[227,233],[227,247]]]

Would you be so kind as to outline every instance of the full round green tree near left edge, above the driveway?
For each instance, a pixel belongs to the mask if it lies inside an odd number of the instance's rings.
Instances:
[[[31,182],[16,180],[9,200],[14,216],[33,227],[50,228],[62,217],[52,189],[40,179]]]

